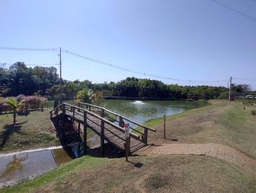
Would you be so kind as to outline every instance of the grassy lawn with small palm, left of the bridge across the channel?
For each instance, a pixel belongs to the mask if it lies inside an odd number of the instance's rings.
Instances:
[[[0,153],[59,145],[49,112],[34,111],[17,116],[13,127],[12,114],[0,115]]]

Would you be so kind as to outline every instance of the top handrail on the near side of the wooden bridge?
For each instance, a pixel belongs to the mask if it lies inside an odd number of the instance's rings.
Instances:
[[[104,123],[107,123],[108,125],[111,125],[112,127],[115,127],[116,129],[118,129],[118,130],[120,130],[121,132],[125,133],[124,128],[122,128],[122,127],[116,125],[115,123],[112,123],[111,121],[107,120],[106,118],[102,118],[101,116],[99,116],[98,114],[96,114],[96,113],[94,113],[94,112],[92,112],[92,111],[88,111],[87,109],[83,109],[83,108],[81,108],[81,107],[77,107],[77,106],[74,106],[74,105],[70,105],[70,104],[63,103],[63,104],[61,104],[61,105],[58,105],[58,107],[54,108],[55,111],[56,111],[56,109],[60,108],[62,105],[69,106],[69,107],[72,107],[72,108],[76,108],[76,109],[79,109],[80,111],[86,111],[86,112],[88,112],[88,114],[91,114],[91,115],[94,116],[95,118],[99,118],[100,120],[104,121]],[[54,110],[54,109],[53,109],[53,110]],[[52,110],[52,111],[53,111],[53,110]],[[50,112],[52,112],[52,111],[50,111]],[[132,133],[132,132],[129,132],[129,133],[130,133],[130,135],[131,135],[132,137],[136,137],[137,139],[140,139],[139,135],[136,135],[136,134],[134,134],[134,133]]]

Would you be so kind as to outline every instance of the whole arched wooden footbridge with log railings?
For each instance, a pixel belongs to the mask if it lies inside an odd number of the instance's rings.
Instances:
[[[104,154],[104,141],[107,141],[121,151],[126,150],[127,153],[134,153],[147,146],[148,130],[156,132],[156,129],[141,125],[140,123],[125,118],[125,116],[117,114],[116,112],[81,102],[76,105],[63,103],[50,111],[50,113],[52,123],[54,123],[56,128],[59,128],[58,135],[62,138],[65,137],[66,141],[68,141],[66,145],[72,146],[78,144],[79,150],[81,146],[84,153],[87,149],[87,128],[90,128],[95,134],[100,136],[101,155]],[[68,122],[72,123],[72,125],[67,126]],[[124,122],[133,123],[136,127],[143,128],[143,132],[130,126],[130,137],[125,139],[125,130],[122,127],[124,126]],[[76,125],[78,125],[78,127],[76,127]],[[83,125],[83,132],[81,131],[81,125]],[[132,130],[138,135],[131,132]],[[76,135],[76,137],[74,137],[74,135]],[[81,139],[83,139],[83,141],[81,141]]]

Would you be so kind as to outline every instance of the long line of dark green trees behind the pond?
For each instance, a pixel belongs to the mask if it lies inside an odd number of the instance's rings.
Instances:
[[[62,82],[63,100],[74,99],[84,88],[101,92],[102,96],[195,99],[219,98],[227,93],[223,86],[179,86],[178,84],[164,84],[161,81],[137,79],[127,77],[118,82],[92,83],[91,81],[60,80],[57,69],[53,66],[26,66],[17,62],[9,68],[0,67],[0,96],[40,95],[53,100],[60,98],[60,81]],[[233,85],[238,92],[250,92],[250,86]]]

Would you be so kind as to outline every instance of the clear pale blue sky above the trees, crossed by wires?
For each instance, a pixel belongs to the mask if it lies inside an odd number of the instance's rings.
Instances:
[[[253,0],[218,1],[256,18]],[[63,79],[116,82],[138,77],[167,84],[227,86],[232,76],[237,78],[234,83],[256,89],[256,81],[241,80],[256,79],[256,20],[212,0],[0,0],[0,14],[1,47],[61,47],[145,73],[62,52]],[[56,51],[0,49],[0,63],[17,61],[52,64],[59,62],[59,56]]]

